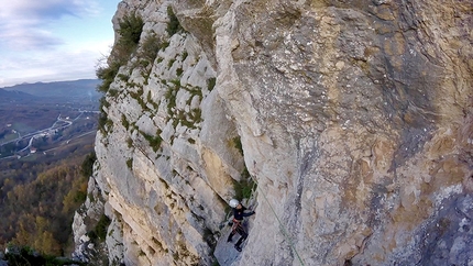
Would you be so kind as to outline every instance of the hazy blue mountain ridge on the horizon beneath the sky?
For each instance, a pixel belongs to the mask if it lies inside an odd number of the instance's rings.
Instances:
[[[98,98],[100,93],[96,90],[101,81],[99,79],[78,79],[54,82],[20,84],[1,88],[7,91],[21,91],[36,97],[48,98]]]

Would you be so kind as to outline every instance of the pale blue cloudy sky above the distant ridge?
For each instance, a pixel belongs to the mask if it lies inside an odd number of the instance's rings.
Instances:
[[[96,78],[120,0],[0,0],[0,88]]]

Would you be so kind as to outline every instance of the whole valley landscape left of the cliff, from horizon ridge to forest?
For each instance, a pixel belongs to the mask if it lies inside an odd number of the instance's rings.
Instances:
[[[84,162],[95,156],[97,84],[0,89],[1,250],[14,244],[68,255],[73,214],[86,197]]]

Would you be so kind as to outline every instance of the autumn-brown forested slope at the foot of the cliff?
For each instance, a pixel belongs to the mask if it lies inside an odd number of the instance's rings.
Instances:
[[[0,209],[0,246],[30,246],[48,255],[68,255],[74,211],[87,197],[87,180],[95,154],[72,157],[45,169],[25,182],[3,180]],[[10,188],[11,187],[11,188]]]

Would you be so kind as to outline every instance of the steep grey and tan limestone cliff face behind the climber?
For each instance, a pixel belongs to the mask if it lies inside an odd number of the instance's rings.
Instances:
[[[77,254],[105,212],[111,264],[470,265],[472,11],[122,1],[116,30],[144,27],[107,93]],[[164,45],[138,64],[151,37]],[[256,215],[235,254],[219,239],[242,190]]]

